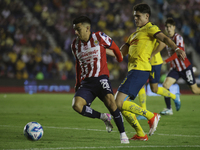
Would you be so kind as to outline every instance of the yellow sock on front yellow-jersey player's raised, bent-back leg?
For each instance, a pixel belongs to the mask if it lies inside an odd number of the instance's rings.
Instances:
[[[139,105],[131,101],[124,101],[122,111],[129,111],[137,115],[142,115],[148,120],[150,120],[154,116],[152,112],[141,108]]]

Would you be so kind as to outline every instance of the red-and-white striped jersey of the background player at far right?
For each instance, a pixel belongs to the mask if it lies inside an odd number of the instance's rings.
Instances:
[[[179,49],[185,51],[185,44],[181,35],[175,33],[171,40],[174,41],[174,43],[179,47]],[[166,46],[166,49],[170,57],[166,59],[165,62],[170,61],[170,65],[172,68],[176,68],[177,71],[182,71],[185,70],[191,64],[187,57],[184,61],[182,59],[179,59],[174,49],[170,48],[169,46]]]

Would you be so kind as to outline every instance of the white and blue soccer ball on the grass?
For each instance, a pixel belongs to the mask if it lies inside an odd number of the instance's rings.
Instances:
[[[43,128],[38,122],[29,122],[24,127],[24,136],[32,141],[37,141],[43,136]]]

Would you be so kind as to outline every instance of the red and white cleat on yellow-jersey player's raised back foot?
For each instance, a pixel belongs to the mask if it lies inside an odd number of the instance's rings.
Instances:
[[[150,130],[149,130],[149,136],[153,135],[154,132],[156,131],[156,128],[158,126],[158,122],[160,120],[160,115],[157,114],[157,113],[154,113],[154,116],[153,118],[151,118],[149,121],[148,121],[148,124],[149,124],[149,127],[150,127]]]

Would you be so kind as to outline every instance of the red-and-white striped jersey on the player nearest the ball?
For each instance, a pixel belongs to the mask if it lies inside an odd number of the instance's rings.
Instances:
[[[114,41],[102,32],[91,33],[87,42],[82,42],[78,38],[74,39],[71,48],[76,58],[76,86],[79,86],[81,80],[85,78],[109,76],[106,48],[110,48],[113,43]],[[117,51],[117,57],[122,59],[118,47],[115,47],[113,51]]]

